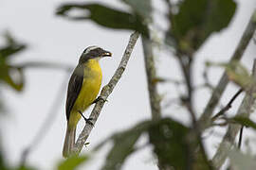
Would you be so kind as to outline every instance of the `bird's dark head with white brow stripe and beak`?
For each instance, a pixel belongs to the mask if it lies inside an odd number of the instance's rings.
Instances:
[[[80,58],[80,62],[86,62],[89,59],[102,59],[104,57],[111,57],[112,54],[109,51],[103,50],[99,46],[88,46],[82,52],[82,56]]]

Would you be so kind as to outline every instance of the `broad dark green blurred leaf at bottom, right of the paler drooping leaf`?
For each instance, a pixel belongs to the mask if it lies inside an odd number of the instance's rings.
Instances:
[[[186,140],[189,128],[171,120],[163,119],[150,128],[150,143],[162,165],[186,169],[189,145]]]

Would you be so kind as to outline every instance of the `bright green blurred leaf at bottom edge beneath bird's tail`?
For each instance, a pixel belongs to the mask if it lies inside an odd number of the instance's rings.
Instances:
[[[83,162],[88,161],[87,156],[72,156],[59,163],[58,170],[74,170]]]

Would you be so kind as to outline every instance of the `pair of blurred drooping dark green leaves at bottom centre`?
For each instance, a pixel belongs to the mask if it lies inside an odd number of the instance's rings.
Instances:
[[[162,165],[186,169],[192,161],[192,152],[197,146],[195,138],[188,139],[190,128],[181,125],[170,118],[159,121],[145,121],[123,132],[113,135],[113,147],[108,153],[102,169],[120,169],[126,158],[137,151],[137,140],[142,134],[149,136],[149,144],[153,144],[154,152]],[[107,140],[107,141],[109,141]],[[105,144],[105,142],[103,143]],[[102,144],[100,144],[100,147]],[[198,152],[200,153],[200,152]],[[199,157],[198,157],[199,158]],[[194,159],[205,167],[205,162]]]

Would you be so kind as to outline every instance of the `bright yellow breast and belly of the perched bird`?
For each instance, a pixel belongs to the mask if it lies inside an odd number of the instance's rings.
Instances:
[[[99,61],[90,59],[84,64],[82,89],[78,98],[70,112],[68,127],[74,127],[81,119],[81,114],[78,112],[86,110],[92,102],[97,98],[101,89],[101,67]]]

